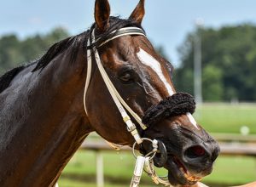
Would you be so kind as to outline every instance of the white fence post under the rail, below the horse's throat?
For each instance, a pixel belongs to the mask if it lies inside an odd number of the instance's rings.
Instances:
[[[96,184],[97,187],[104,186],[103,156],[101,151],[96,151]]]

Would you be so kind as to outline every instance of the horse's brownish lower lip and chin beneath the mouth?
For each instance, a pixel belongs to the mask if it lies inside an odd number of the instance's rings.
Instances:
[[[168,158],[165,167],[168,170],[168,180],[172,185],[193,185],[201,180],[201,177],[189,173],[177,157]]]

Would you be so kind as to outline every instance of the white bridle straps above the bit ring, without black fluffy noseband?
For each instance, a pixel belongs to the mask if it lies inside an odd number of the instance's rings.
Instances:
[[[145,36],[144,31],[140,28],[137,27],[125,27],[122,29],[119,29],[117,31],[113,31],[112,32],[113,37],[109,38],[108,40],[102,42],[100,45],[98,45],[99,47],[106,44],[107,42],[112,41],[113,39],[117,38],[117,37],[123,37],[123,36],[127,36],[127,35],[142,35]],[[95,43],[95,31],[92,31],[91,34],[91,42],[90,42],[90,38],[88,39],[87,42],[87,46],[91,46],[91,44]],[[117,106],[117,108],[119,109],[119,112],[121,114],[121,116],[123,117],[123,120],[127,126],[127,130],[132,134],[132,136],[134,137],[134,139],[137,141],[137,144],[141,144],[143,142],[143,139],[141,139],[139,133],[137,132],[137,127],[134,125],[133,122],[131,122],[131,117],[127,114],[127,112],[125,111],[125,109],[127,111],[129,111],[129,113],[131,114],[131,116],[137,121],[137,123],[143,128],[143,130],[145,130],[147,127],[143,124],[142,119],[137,115],[136,112],[132,111],[132,109],[129,107],[129,105],[127,105],[125,103],[125,100],[122,99],[122,97],[119,95],[119,92],[116,90],[116,88],[113,86],[113,83],[111,82],[111,80],[108,77],[107,72],[105,71],[103,65],[102,65],[102,61],[100,58],[100,55],[96,49],[96,47],[94,46],[92,49],[88,49],[87,50],[87,76],[86,76],[86,81],[85,81],[85,87],[84,87],[84,110],[86,112],[86,114],[88,113],[87,109],[86,109],[86,93],[90,84],[90,76],[91,76],[91,55],[95,56],[96,59],[96,65],[102,75],[103,81],[105,82],[109,93],[111,94],[111,97],[115,103],[115,105]],[[125,107],[125,108],[124,108]]]

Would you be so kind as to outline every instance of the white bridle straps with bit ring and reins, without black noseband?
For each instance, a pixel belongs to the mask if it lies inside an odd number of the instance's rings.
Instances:
[[[144,36],[146,37],[144,31],[141,28],[138,27],[125,27],[121,28],[119,30],[113,31],[112,37],[108,38],[106,41],[101,42],[98,47],[101,47],[102,45],[106,44],[107,42],[112,41],[113,39],[117,37],[123,37],[123,36]],[[136,167],[133,173],[133,178],[131,179],[131,185],[132,187],[137,187],[137,185],[140,182],[140,178],[143,173],[143,169],[146,173],[148,173],[148,176],[151,177],[155,184],[164,184],[171,186],[168,180],[160,178],[154,171],[154,162],[153,157],[155,156],[157,150],[158,150],[158,141],[156,139],[151,140],[147,138],[141,138],[140,134],[138,133],[136,125],[131,122],[131,117],[127,114],[126,111],[130,113],[130,115],[136,120],[136,122],[139,124],[139,126],[145,130],[147,128],[146,125],[143,124],[142,119],[140,116],[137,115],[135,111],[133,111],[129,105],[126,104],[125,100],[122,99],[122,97],[119,95],[119,92],[116,90],[116,88],[113,86],[113,83],[108,77],[107,72],[105,71],[102,61],[100,59],[100,55],[98,53],[98,50],[96,48],[96,45],[94,45],[97,41],[99,41],[99,38],[96,40],[95,38],[95,29],[91,31],[91,35],[87,42],[87,75],[86,75],[86,81],[84,86],[84,110],[86,114],[88,113],[86,109],[86,93],[90,85],[90,77],[91,77],[91,67],[92,67],[92,55],[94,55],[94,58],[96,60],[96,65],[102,75],[102,79],[105,82],[109,93],[111,94],[111,97],[117,106],[120,115],[123,118],[123,121],[126,124],[128,132],[131,133],[131,135],[135,139],[135,143],[133,144],[133,150],[135,150],[136,144],[142,144],[144,140],[150,141],[152,143],[153,150],[146,154],[145,156],[136,156],[137,163]],[[90,48],[92,46],[92,48]],[[126,110],[126,111],[125,111]],[[133,151],[134,153],[134,151]],[[134,153],[135,156],[135,153]]]

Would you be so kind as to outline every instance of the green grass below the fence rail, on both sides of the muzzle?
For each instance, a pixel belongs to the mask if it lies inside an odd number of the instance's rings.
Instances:
[[[135,160],[129,152],[103,152],[106,186],[127,186],[130,184]],[[256,159],[246,156],[220,156],[210,176],[203,179],[206,184],[230,186],[247,184],[256,180]],[[63,171],[61,186],[96,186],[96,153],[79,150]],[[142,185],[154,186],[146,174]],[[212,185],[211,185],[212,186]]]

